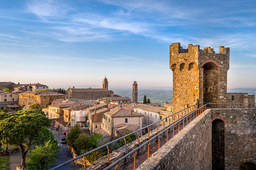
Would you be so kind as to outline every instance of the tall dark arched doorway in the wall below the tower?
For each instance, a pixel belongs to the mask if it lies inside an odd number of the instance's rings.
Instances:
[[[212,170],[225,169],[225,122],[212,119]]]

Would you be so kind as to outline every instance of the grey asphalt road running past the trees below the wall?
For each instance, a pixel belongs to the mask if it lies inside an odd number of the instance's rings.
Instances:
[[[64,138],[64,135],[63,134],[61,134],[60,133],[60,136],[58,136],[58,131],[52,131],[53,132],[53,134],[54,134],[54,138],[55,138],[55,140],[57,140],[58,141],[58,145],[60,146],[60,148],[61,148],[61,150],[60,150],[60,152],[59,153],[57,153],[57,155],[58,155],[58,163],[55,163],[55,164],[52,164],[51,166],[50,166],[50,168],[53,168],[53,167],[56,167],[57,165],[59,165],[59,164],[62,164],[62,163],[64,163],[64,162],[66,162],[66,161],[68,161],[68,160],[70,160],[70,159],[72,159],[72,155],[71,155],[71,153],[70,153],[70,151],[69,151],[69,149],[68,149],[68,146],[67,146],[67,144],[66,143],[64,143],[64,144],[61,144],[61,141],[60,141],[60,139],[61,138]],[[66,164],[65,166],[63,166],[63,167],[61,167],[61,168],[59,168],[60,170],[79,170],[81,167],[79,167],[79,166],[77,166],[76,164],[74,164],[74,163],[71,163],[71,164]]]

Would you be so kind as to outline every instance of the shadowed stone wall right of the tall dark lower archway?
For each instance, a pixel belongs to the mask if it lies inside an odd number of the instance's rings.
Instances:
[[[212,109],[212,117],[225,123],[225,169],[256,163],[256,108]]]

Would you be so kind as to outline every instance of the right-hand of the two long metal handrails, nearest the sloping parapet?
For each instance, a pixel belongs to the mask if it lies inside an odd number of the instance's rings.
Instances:
[[[207,104],[205,104],[207,105]],[[160,133],[157,133],[154,137],[152,137],[151,139],[145,141],[143,144],[141,144],[139,147],[135,148],[134,150],[130,151],[129,153],[127,153],[126,155],[124,155],[122,158],[119,158],[118,160],[116,160],[115,162],[111,163],[108,167],[104,168],[103,170],[108,170],[111,167],[115,166],[118,162],[120,162],[121,160],[125,159],[126,157],[128,157],[129,155],[131,155],[132,153],[134,153],[135,151],[139,150],[140,148],[142,148],[144,145],[146,145],[147,143],[151,142],[153,139],[157,138],[158,136],[160,136],[162,133],[166,132],[167,130],[169,130],[170,128],[172,128],[173,126],[175,126],[176,124],[180,123],[180,121],[183,121],[186,117],[188,117],[189,115],[191,115],[192,113],[198,111],[199,109],[203,108],[205,105],[199,107],[198,109],[192,111],[191,113],[189,113],[188,115],[184,116],[182,119],[178,120],[177,122],[175,122],[174,124],[172,124],[171,126],[169,126],[168,128],[166,128],[165,130],[163,130]]]

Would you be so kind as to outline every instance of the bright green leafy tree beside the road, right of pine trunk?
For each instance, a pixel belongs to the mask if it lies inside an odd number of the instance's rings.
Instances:
[[[44,170],[49,169],[49,165],[57,163],[57,153],[61,148],[58,144],[49,140],[41,146],[36,146],[34,150],[31,150],[29,154],[29,160],[27,163],[28,170]]]

